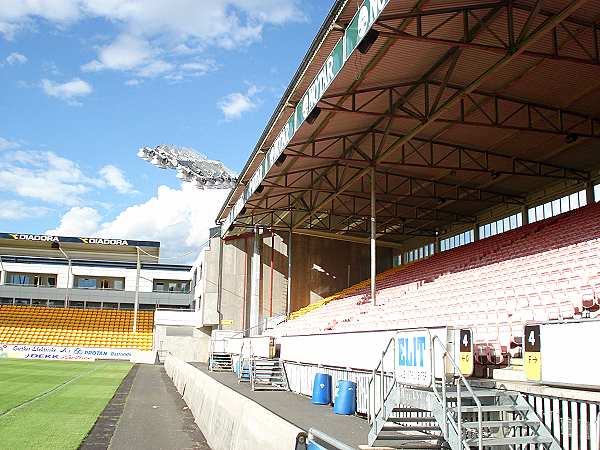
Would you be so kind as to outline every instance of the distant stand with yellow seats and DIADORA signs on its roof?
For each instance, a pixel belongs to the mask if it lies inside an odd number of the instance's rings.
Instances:
[[[132,359],[156,350],[155,310],[196,308],[192,266],[159,263],[159,252],[151,241],[0,234],[5,353],[51,359],[62,347]]]

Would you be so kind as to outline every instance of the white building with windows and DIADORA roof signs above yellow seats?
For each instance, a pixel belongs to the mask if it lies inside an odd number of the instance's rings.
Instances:
[[[0,305],[195,309],[192,267],[160,243],[0,233]]]

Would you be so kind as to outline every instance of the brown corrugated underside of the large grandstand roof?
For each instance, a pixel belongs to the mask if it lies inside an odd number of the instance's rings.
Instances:
[[[287,160],[280,167],[271,169],[268,180],[263,183],[264,190],[253,195],[252,205],[266,209],[273,208],[273,204],[289,206],[291,200],[282,199],[285,193],[298,188],[300,190],[294,199],[303,196],[304,203],[294,201],[301,210],[306,209],[306,205],[314,208],[329,198],[331,204],[323,205],[323,210],[331,214],[341,214],[344,208],[360,210],[366,201],[362,194],[368,192],[363,181],[356,181],[348,189],[356,193],[352,208],[344,203],[348,201],[344,199],[350,197],[347,193],[335,200],[330,196],[340,185],[361,173],[361,168],[367,167],[368,162],[360,161],[362,156],[359,152],[348,151],[359,142],[359,132],[367,130],[376,130],[377,134],[361,141],[360,152],[363,155],[370,157],[373,149],[389,150],[381,170],[391,171],[394,176],[390,181],[389,175],[377,175],[381,195],[393,197],[394,193],[401,192],[400,187],[405,187],[401,179],[424,180],[420,187],[411,191],[415,194],[414,198],[398,194],[396,203],[401,204],[404,210],[409,204],[431,210],[474,214],[494,202],[517,201],[514,196],[524,197],[531,190],[555,182],[557,172],[550,171],[545,163],[563,166],[564,172],[561,173],[572,178],[579,177],[581,172],[571,169],[589,170],[600,166],[600,156],[593,151],[600,137],[599,49],[594,47],[598,39],[592,39],[590,28],[590,24],[597,23],[600,17],[600,0],[582,2],[581,7],[556,28],[555,33],[546,32],[526,52],[513,57],[499,69],[494,68],[495,64],[510,54],[502,48],[509,42],[507,2],[431,0],[423,2],[426,14],[421,19],[414,14],[407,19],[417,3],[400,0],[388,3],[375,26],[381,32],[379,39],[366,55],[355,52],[350,57],[319,103],[323,108],[320,116],[313,124],[304,123],[297,131],[286,150]],[[513,2],[515,41],[522,32],[536,32],[551,15],[575,3],[579,4],[575,0],[547,0],[541,13],[528,21],[534,2]],[[474,9],[466,13],[447,10],[464,6]],[[444,11],[441,11],[442,8]],[[355,4],[346,5],[337,23],[347,24],[355,11]],[[465,14],[470,28],[468,38],[463,36]],[[417,24],[417,20],[420,23]],[[488,22],[482,25],[483,21]],[[402,30],[389,28],[400,24],[404,25]],[[293,100],[299,100],[340,35],[339,31],[330,31],[325,36],[304,76],[298,80],[291,95]],[[493,75],[478,82],[479,77],[490,70],[493,70]],[[423,82],[425,79],[427,85]],[[455,97],[459,90],[474,82],[477,86],[473,92],[457,101]],[[352,97],[352,92],[358,93]],[[400,101],[403,108],[395,109],[392,123],[388,126],[390,102],[396,104]],[[433,109],[446,102],[452,104],[443,112]],[[275,139],[276,131],[283,125],[288,113],[291,113],[291,108],[274,122],[271,132],[266,134],[261,144],[262,148]],[[436,114],[437,121],[429,120],[431,114]],[[596,119],[590,121],[589,117]],[[388,134],[384,139],[382,136],[386,131]],[[405,144],[407,151],[402,151],[401,146],[392,147],[394,143],[406,141],[402,137],[407,133],[414,134],[413,140]],[[598,137],[586,137],[590,133]],[[334,136],[350,134],[352,136],[348,139],[333,139]],[[297,145],[315,139],[322,141],[304,147]],[[426,141],[433,142],[431,154]],[[475,159],[469,163],[470,166],[460,166],[463,167],[461,169],[457,161],[462,153],[440,143],[472,149],[474,153],[467,156]],[[344,148],[348,152],[345,157],[342,153]],[[303,157],[297,157],[299,151],[303,152]],[[485,161],[486,152],[498,155],[492,154],[501,171],[512,167],[511,158],[517,158],[523,160],[523,164],[530,164],[529,167],[535,166],[544,176],[526,174],[524,169],[520,174],[515,172],[498,177],[494,174],[494,167]],[[435,161],[445,161],[446,165]],[[250,166],[255,164],[253,162]],[[457,167],[449,167],[451,164],[457,164]],[[320,169],[302,174],[311,167]],[[326,172],[328,175],[325,175]],[[286,173],[294,175],[286,177]],[[318,179],[321,181],[317,182]],[[426,195],[419,194],[430,194],[433,186],[443,202],[433,195],[425,198]],[[313,189],[312,193],[302,194],[302,189],[309,188]],[[462,188],[474,191],[465,194],[460,191]],[[459,192],[461,196],[454,200],[444,197],[450,191]],[[475,191],[480,196],[479,200],[473,194]],[[235,199],[235,195],[232,198]],[[448,199],[452,201],[446,201]],[[248,209],[251,213],[252,206]],[[298,218],[306,213],[296,212],[293,215]],[[265,225],[272,225],[271,219],[264,220]],[[309,223],[310,220],[306,222]]]

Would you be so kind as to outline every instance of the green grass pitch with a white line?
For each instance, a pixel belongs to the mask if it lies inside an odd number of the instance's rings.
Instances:
[[[131,366],[0,359],[0,448],[76,449]]]

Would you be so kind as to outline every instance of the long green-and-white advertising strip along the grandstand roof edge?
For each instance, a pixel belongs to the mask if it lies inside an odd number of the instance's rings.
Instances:
[[[233,205],[227,219],[223,221],[221,235],[225,235],[227,230],[238,216],[248,199],[252,196],[256,188],[264,180],[265,176],[275,164],[275,161],[281,156],[283,150],[290,143],[296,131],[306,121],[306,118],[317,105],[327,88],[331,85],[335,77],[340,73],[346,61],[356,49],[360,41],[371,29],[389,0],[365,0],[352,21],[344,31],[344,35],[336,43],[335,47],[325,60],[325,64],[310,84],[300,102],[296,106],[294,113],[288,118],[285,125],[277,134],[277,138],[269,148],[265,159],[252,175],[246,189]]]

